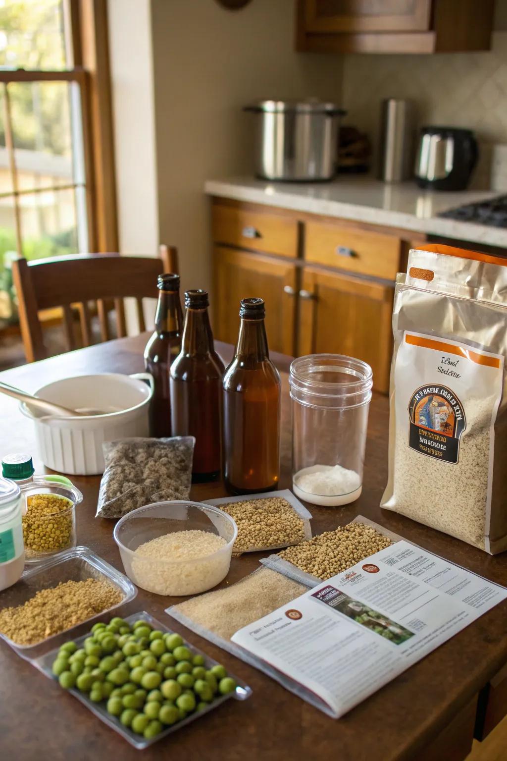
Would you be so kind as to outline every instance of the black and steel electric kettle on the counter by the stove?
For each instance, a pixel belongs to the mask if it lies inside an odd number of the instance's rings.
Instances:
[[[470,129],[423,127],[415,167],[417,185],[433,190],[464,190],[477,154],[477,141]]]

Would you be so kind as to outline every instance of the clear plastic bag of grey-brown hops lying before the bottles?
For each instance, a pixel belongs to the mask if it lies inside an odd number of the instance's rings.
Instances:
[[[188,499],[194,444],[193,436],[104,442],[95,517],[119,518],[151,502]]]

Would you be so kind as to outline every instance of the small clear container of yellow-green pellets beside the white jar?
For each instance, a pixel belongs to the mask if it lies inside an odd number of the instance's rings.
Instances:
[[[36,476],[21,487],[21,494],[25,499],[23,540],[27,563],[40,562],[76,546],[75,508],[83,500],[83,495],[65,476]],[[63,498],[68,507],[49,514],[30,515],[30,501],[40,494]]]

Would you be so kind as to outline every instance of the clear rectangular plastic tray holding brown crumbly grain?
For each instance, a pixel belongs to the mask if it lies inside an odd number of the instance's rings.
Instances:
[[[97,613],[97,616],[106,616],[120,605],[125,605],[125,603],[134,600],[136,594],[138,594],[132,581],[96,555],[95,552],[92,552],[91,549],[88,549],[88,547],[73,547],[68,549],[67,552],[61,552],[58,556],[53,556],[40,562],[39,565],[26,568],[17,584],[0,593],[0,609],[23,605],[36,592],[41,589],[56,587],[61,581],[85,581],[87,578],[109,581],[110,584],[114,584],[123,594],[123,599],[119,603]],[[62,642],[65,641],[69,637],[68,632],[78,631],[83,626],[86,626],[87,622],[97,618],[97,616],[91,616],[89,619],[81,621],[75,626],[69,626],[63,632],[51,635],[33,645],[17,645],[16,642],[3,635],[2,632],[0,632],[0,638],[5,640],[11,648],[14,648],[17,654],[21,655],[21,658],[33,661],[34,658],[37,658],[40,654],[43,654],[49,648],[53,648],[55,644],[59,643],[59,638],[62,639]],[[90,625],[88,624],[87,629],[89,628]]]

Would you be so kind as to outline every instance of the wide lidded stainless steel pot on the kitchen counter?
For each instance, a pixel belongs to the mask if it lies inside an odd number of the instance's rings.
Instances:
[[[332,180],[338,121],[344,110],[318,100],[261,100],[245,110],[257,114],[258,177],[293,182]]]

